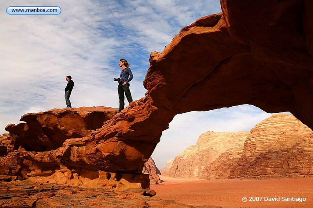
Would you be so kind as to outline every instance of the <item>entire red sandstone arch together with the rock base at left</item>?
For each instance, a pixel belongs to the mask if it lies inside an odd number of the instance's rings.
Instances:
[[[289,111],[312,129],[312,1],[221,0],[221,6],[221,13],[182,28],[162,53],[151,53],[145,97],[120,114],[53,109],[9,124],[10,134],[0,136],[0,180],[51,176],[148,187],[144,163],[174,116],[189,111],[251,104]]]

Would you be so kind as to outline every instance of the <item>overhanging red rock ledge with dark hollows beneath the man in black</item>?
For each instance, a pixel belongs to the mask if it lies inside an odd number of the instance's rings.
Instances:
[[[50,151],[61,147],[66,139],[90,136],[113,117],[115,109],[108,107],[52,109],[36,114],[25,114],[18,125],[5,129],[12,135],[14,145],[27,151]]]

